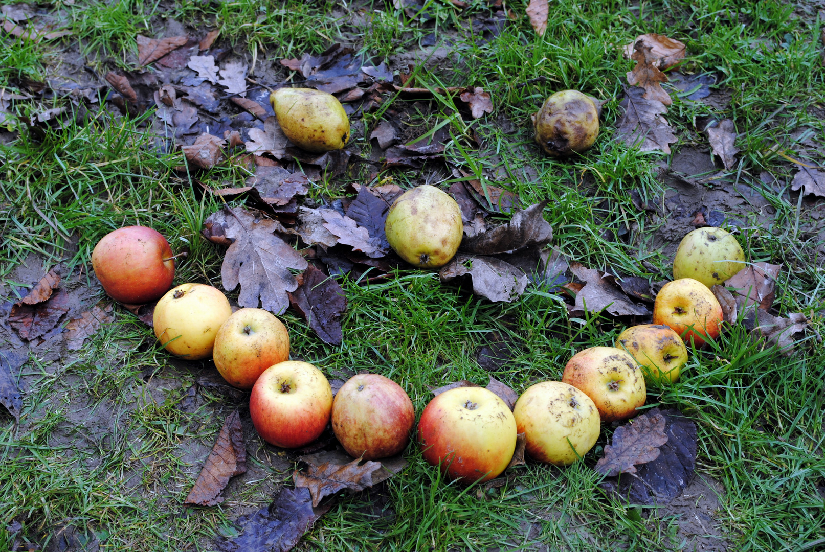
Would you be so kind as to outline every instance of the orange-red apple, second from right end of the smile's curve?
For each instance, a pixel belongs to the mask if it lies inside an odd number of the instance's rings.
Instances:
[[[707,339],[719,337],[723,320],[722,306],[704,283],[693,278],[679,278],[666,283],[653,303],[653,324],[676,330],[686,342],[696,347]]]

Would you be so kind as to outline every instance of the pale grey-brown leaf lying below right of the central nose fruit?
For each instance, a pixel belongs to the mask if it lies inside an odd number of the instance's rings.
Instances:
[[[527,288],[530,278],[520,269],[495,257],[459,253],[439,272],[442,282],[469,274],[473,292],[493,302],[512,302]]]

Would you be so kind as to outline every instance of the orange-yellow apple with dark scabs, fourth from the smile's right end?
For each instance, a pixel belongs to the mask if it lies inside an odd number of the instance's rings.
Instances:
[[[590,347],[574,354],[564,367],[562,381],[584,391],[603,422],[630,418],[647,398],[636,359],[615,347]]]

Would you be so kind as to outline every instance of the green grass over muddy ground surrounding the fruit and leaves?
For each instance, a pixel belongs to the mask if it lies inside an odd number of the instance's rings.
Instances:
[[[97,56],[101,66],[128,65],[134,35],[157,35],[151,29],[162,26],[164,17],[219,28],[219,40],[236,52],[273,61],[318,54],[343,37],[377,63],[435,32],[436,42],[455,42],[453,55],[422,69],[419,82],[483,86],[493,92],[496,112],[460,121],[443,97],[411,122],[422,130],[449,124],[454,140],[446,156],[452,163],[512,189],[525,203],[548,199],[544,217],[554,229],[554,245],[574,260],[654,281],[670,276],[669,260],[652,247],[663,221],[639,213],[629,194],[660,197],[664,189],[653,170],[668,157],[635,152],[612,139],[625,73],[632,68],[620,47],[645,32],[683,40],[689,57],[681,70],[718,72],[714,89],[732,97],[728,107],[714,108],[672,95],[667,119],[680,138],[674,151],[706,144],[702,121],[734,120],[742,150],[733,171],[738,185],[756,185],[761,171],[771,171],[784,186],[757,186],[775,208],[774,220],[762,227],[752,218],[738,238],[749,261],[784,265],[775,303],[780,311],[802,311],[821,328],[819,238],[809,230],[802,203],[787,199],[794,167],[779,155],[799,158],[794,131],[800,127],[815,139],[823,136],[823,121],[812,115],[825,100],[820,24],[791,18],[788,5],[773,1],[628,7],[560,0],[551,3],[548,30],[538,37],[521,15],[523,5],[507,7],[516,20],[486,42],[468,30],[468,16],[483,14],[483,2],[460,11],[432,0],[425,11],[433,19],[426,24],[421,14],[412,18],[391,2],[181,0],[174,8],[81,2],[64,9],[82,52]],[[57,44],[68,44],[64,40]],[[44,44],[3,36],[0,84],[20,90],[22,78],[42,77],[52,55]],[[571,161],[538,155],[526,124],[549,93],[563,88],[606,100],[596,146]],[[56,102],[71,108],[66,100]],[[27,105],[16,102],[11,109],[25,115]],[[365,118],[366,125],[375,126],[384,113]],[[48,267],[65,260],[87,278],[92,246],[101,236],[144,224],[167,236],[174,250],[189,250],[177,281],[219,285],[222,250],[203,240],[200,229],[221,203],[201,196],[173,170],[182,164],[181,154],[158,152],[140,119],[106,110],[91,117],[42,135],[24,132],[0,146],[0,280],[12,284],[14,270],[29,255]],[[483,137],[483,147],[469,140],[471,131]],[[369,147],[365,140],[357,145]],[[240,185],[244,176],[237,167],[223,167],[200,180]],[[347,182],[362,183],[361,176],[325,180],[310,195],[336,199]],[[379,179],[388,176],[405,187],[431,177],[394,169]],[[615,239],[624,232],[627,238]],[[558,379],[574,352],[612,344],[624,327],[606,314],[568,319],[544,288],[530,288],[512,304],[491,304],[416,270],[402,270],[384,283],[345,278],[342,285],[349,301],[343,344],[323,344],[288,311],[282,318],[293,357],[315,363],[329,377],[358,370],[392,377],[419,414],[431,397],[428,386],[462,378],[486,384],[489,374],[475,355],[491,332],[506,336],[515,353],[494,377],[523,391],[535,381]],[[199,402],[185,407],[186,391],[209,364],[170,359],[151,330],[123,311],[115,309],[114,316],[76,355],[55,361],[59,351],[48,345],[32,353],[23,368],[21,426],[0,414],[0,550],[11,546],[14,537],[5,527],[15,521],[22,524],[16,538],[44,548],[45,540],[75,526],[95,531],[103,550],[212,550],[215,535],[233,534],[239,512],[268,503],[290,478],[289,457],[250,437],[251,473],[230,483],[227,502],[183,506],[224,416],[243,408],[246,399],[200,386]],[[679,408],[696,421],[699,472],[724,486],[717,517],[730,550],[822,548],[823,364],[825,349],[813,339],[785,357],[736,330],[693,351],[676,384],[648,389],[648,406]],[[528,463],[498,489],[445,481],[410,445],[402,474],[380,489],[339,498],[297,550],[533,550],[536,542],[549,550],[683,550],[676,518],[641,517],[639,508],[595,490],[600,478],[592,465],[611,433],[605,427],[594,452],[577,465],[560,470]],[[387,515],[370,508],[380,503],[389,506]]]

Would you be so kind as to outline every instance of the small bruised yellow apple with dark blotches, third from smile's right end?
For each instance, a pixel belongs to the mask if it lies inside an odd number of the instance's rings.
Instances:
[[[631,326],[619,334],[615,346],[632,354],[645,378],[656,382],[678,380],[681,367],[687,363],[685,342],[666,325]]]

